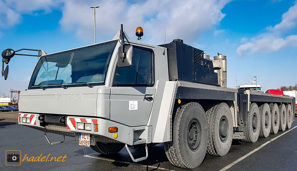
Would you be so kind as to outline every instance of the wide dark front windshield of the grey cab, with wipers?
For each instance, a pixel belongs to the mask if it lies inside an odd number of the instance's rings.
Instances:
[[[109,41],[40,57],[28,89],[105,84],[116,43],[117,40]]]

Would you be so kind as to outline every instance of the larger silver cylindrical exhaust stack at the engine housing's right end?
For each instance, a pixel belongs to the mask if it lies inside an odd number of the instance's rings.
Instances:
[[[218,84],[227,87],[227,56],[219,54],[214,56],[214,72],[218,74]]]

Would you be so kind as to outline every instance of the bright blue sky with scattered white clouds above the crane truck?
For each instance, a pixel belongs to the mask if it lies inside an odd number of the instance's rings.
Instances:
[[[172,39],[227,55],[228,87],[257,79],[265,89],[297,82],[297,1],[18,1],[0,0],[0,51],[12,48],[42,49],[47,53],[94,43],[96,10],[97,42],[124,30],[136,40],[163,44]],[[28,52],[31,53],[31,52]],[[7,81],[0,90],[25,90],[37,57],[12,58]]]

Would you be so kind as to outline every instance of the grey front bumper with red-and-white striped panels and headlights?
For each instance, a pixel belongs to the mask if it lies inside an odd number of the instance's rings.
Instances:
[[[38,120],[39,114],[19,113],[19,124],[35,128],[44,132],[56,133],[74,137],[74,134],[85,133],[94,135],[99,142],[120,142],[128,145],[135,145],[139,140],[145,140],[145,143],[151,143],[152,140],[152,127],[128,127],[110,120],[91,118],[91,117],[77,117],[67,116],[66,125],[61,126],[58,124],[45,124],[40,125]],[[29,118],[30,123],[22,122],[23,118]],[[92,124],[92,130],[78,130],[78,123]],[[93,129],[93,124],[98,124],[98,131]],[[117,127],[117,132],[108,132],[109,127]],[[114,133],[117,137],[114,138]]]

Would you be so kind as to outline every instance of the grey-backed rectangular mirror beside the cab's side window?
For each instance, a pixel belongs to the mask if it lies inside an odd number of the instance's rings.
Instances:
[[[133,46],[132,45],[125,45],[124,46],[124,53],[121,53],[121,48],[119,47],[118,51],[118,67],[129,67],[132,65],[133,59]]]

